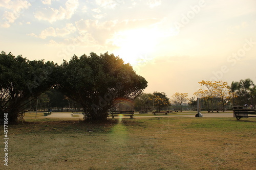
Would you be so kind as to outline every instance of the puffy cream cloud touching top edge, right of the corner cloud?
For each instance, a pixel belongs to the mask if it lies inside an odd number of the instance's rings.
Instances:
[[[54,9],[51,7],[41,9],[35,13],[35,18],[38,20],[47,20],[50,23],[62,19],[70,19],[74,14],[75,10],[78,8],[78,0],[68,0],[65,3],[65,8],[62,6],[59,9]]]

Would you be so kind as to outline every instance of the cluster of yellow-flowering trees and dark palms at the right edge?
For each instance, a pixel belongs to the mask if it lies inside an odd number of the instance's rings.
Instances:
[[[231,85],[223,81],[201,81],[203,88],[194,94],[202,98],[205,110],[213,112],[214,110],[232,109],[232,106],[255,107],[256,88],[251,79],[233,81]]]

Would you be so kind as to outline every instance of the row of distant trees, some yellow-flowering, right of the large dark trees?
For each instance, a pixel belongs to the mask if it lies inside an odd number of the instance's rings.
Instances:
[[[256,106],[256,86],[251,79],[240,80],[239,82],[233,81],[231,85],[223,81],[204,81],[199,82],[202,86],[198,91],[194,93],[195,96],[199,97],[201,100],[201,109],[208,112],[214,111],[225,111],[227,109],[232,109],[232,106],[244,106],[255,108]],[[151,108],[151,110],[160,109],[179,109],[182,111],[182,107],[187,102],[191,110],[197,109],[197,99],[192,97],[187,98],[187,93],[176,92],[173,94],[172,99],[168,99],[166,94],[161,98],[166,98],[165,104],[157,107],[156,103],[153,101],[158,101],[156,92],[144,93],[139,96],[134,102],[134,108],[137,111],[145,110],[145,108]],[[160,98],[160,99],[161,99]],[[160,100],[163,101],[163,100]],[[177,105],[177,106],[176,106]]]

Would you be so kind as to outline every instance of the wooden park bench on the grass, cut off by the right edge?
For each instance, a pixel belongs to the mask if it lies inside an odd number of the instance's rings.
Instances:
[[[237,120],[240,120],[242,117],[256,117],[256,110],[255,109],[248,109],[246,106],[234,106],[233,107],[233,113],[234,116],[236,116]],[[255,114],[253,115],[248,115],[248,114]]]

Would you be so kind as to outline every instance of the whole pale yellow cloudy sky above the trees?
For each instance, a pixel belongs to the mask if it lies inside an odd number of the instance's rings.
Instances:
[[[1,51],[58,64],[113,53],[169,98],[202,80],[256,84],[255,0],[1,0],[0,38]]]

